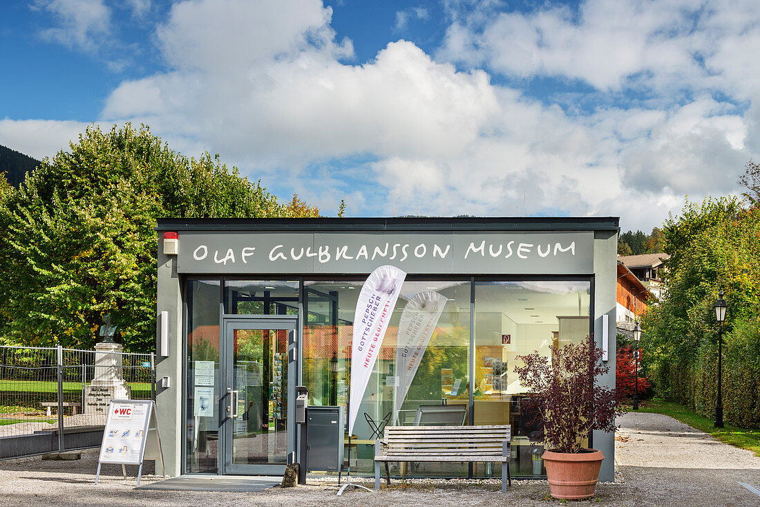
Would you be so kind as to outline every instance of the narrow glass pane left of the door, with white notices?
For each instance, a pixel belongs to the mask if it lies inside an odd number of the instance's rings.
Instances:
[[[219,280],[188,280],[185,470],[216,472],[219,443]]]

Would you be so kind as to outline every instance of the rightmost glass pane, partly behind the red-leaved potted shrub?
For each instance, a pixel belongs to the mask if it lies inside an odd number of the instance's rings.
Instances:
[[[591,283],[586,281],[476,282],[474,422],[511,424],[515,477],[546,474],[538,459],[532,417],[521,413],[525,389],[518,381],[516,356],[550,346],[577,343],[589,335]],[[484,467],[476,474],[483,475]]]

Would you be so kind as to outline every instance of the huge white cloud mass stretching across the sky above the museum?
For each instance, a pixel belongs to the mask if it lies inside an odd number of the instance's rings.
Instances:
[[[624,227],[648,230],[686,193],[736,192],[760,148],[757,97],[737,80],[757,65],[711,63],[749,41],[721,35],[736,21],[718,11],[690,28],[686,4],[610,5],[586,2],[578,19],[559,8],[452,16],[440,54],[474,65],[463,72],[406,40],[347,64],[351,43],[337,42],[331,10],[317,0],[182,2],[157,32],[169,69],[122,82],[102,119],[147,123],[185,155],[218,152],[327,213],[344,198],[351,214],[622,215]],[[754,30],[749,19],[736,26]],[[695,33],[712,34],[712,53]],[[495,85],[479,65],[581,78],[608,99],[604,90],[623,86],[650,86],[651,96],[579,111]],[[672,93],[652,91],[676,75],[683,82]],[[749,109],[730,94],[746,95]],[[0,135],[46,128],[69,126],[5,120]]]

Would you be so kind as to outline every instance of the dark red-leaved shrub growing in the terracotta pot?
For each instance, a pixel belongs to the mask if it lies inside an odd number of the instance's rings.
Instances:
[[[623,410],[616,390],[599,385],[598,378],[610,368],[602,365],[593,338],[550,349],[550,360],[538,351],[518,356],[524,365],[515,373],[529,392],[522,412],[533,414],[528,425],[537,427],[547,448],[578,453],[592,429],[615,431],[615,416]]]

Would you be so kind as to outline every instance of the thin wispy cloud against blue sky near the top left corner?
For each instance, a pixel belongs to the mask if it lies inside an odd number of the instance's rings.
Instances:
[[[71,49],[93,52],[109,31],[111,12],[103,0],[40,0],[34,6],[58,22],[40,35]]]

